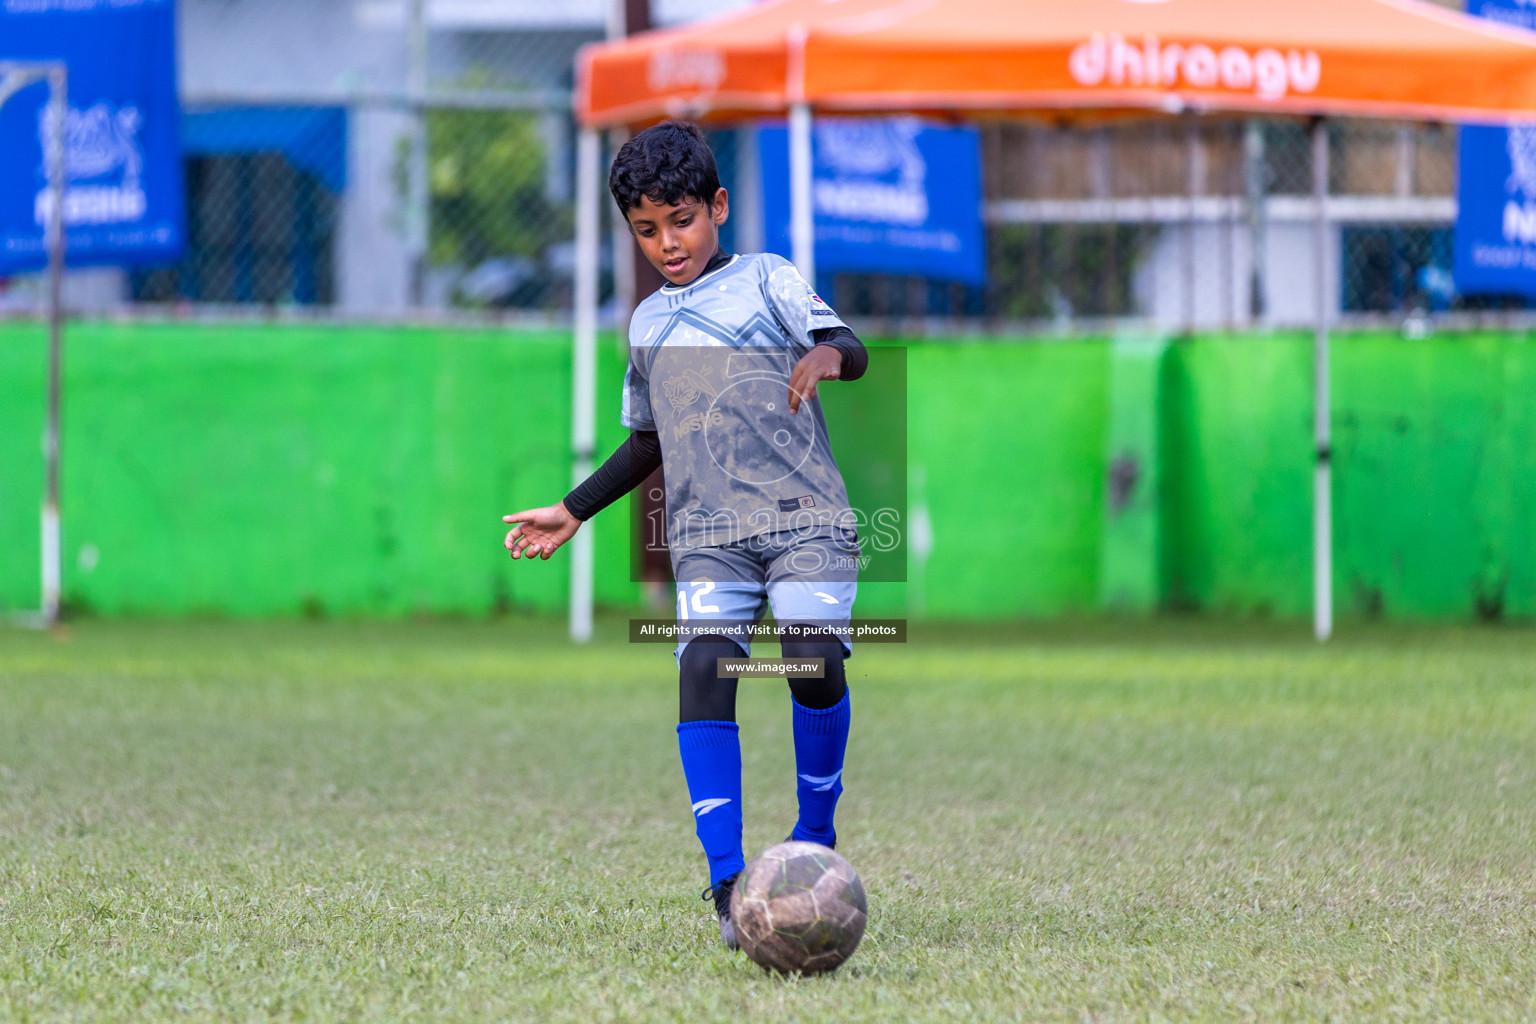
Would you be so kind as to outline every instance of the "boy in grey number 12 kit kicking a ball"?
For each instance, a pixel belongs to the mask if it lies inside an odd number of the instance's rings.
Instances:
[[[582,522],[656,467],[677,580],[677,746],[710,863],[720,940],[736,949],[731,887],[742,857],[736,677],[766,606],[785,659],[823,659],[790,679],[799,820],[790,838],[834,846],[843,791],[857,534],[817,401],[822,381],[863,375],[868,353],[782,256],[730,255],[730,206],[699,129],[667,121],[619,150],[608,190],[665,286],[634,310],[617,451],[565,500],[511,516],[513,559],[548,559]],[[843,626],[843,628],[839,628]]]

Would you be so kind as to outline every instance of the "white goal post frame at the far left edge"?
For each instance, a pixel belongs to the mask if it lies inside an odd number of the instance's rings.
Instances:
[[[58,407],[63,362],[63,279],[65,279],[65,123],[69,114],[69,68],[63,61],[0,61],[0,106],[38,81],[48,83],[48,418],[43,424],[43,594],[37,613],[20,616],[25,625],[51,626],[58,622],[58,596],[63,583],[63,553],[58,519]]]

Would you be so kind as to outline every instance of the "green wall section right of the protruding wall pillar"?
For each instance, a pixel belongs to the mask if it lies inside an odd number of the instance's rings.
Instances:
[[[1335,605],[1536,611],[1536,359],[1524,335],[1333,347]],[[1310,336],[1201,338],[1163,365],[1163,583],[1174,606],[1304,614]]]

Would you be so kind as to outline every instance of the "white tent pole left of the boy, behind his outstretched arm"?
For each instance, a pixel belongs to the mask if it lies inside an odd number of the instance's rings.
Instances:
[[[602,173],[596,129],[576,143],[576,330],[571,373],[571,482],[591,476],[598,445],[598,178]],[[591,639],[591,530],[571,539],[571,640]]]

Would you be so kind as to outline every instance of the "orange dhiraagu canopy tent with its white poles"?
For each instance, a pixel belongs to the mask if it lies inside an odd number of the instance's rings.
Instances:
[[[585,48],[578,175],[576,471],[593,456],[598,129],[662,117],[790,115],[793,258],[814,279],[811,111],[1312,115],[1315,197],[1313,628],[1333,628],[1329,431],[1329,115],[1536,118],[1536,34],[1424,0],[765,0]],[[584,534],[578,534],[578,540]],[[590,543],[590,542],[587,542]],[[591,628],[591,551],[571,634]]]

